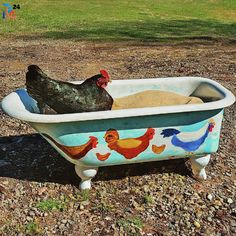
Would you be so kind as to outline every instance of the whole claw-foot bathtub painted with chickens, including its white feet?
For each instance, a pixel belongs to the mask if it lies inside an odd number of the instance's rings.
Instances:
[[[1,106],[75,165],[81,189],[91,188],[100,166],[186,157],[194,177],[206,179],[210,154],[219,146],[223,110],[235,101],[230,91],[201,77],[116,80],[107,90],[115,98],[144,90],[171,91],[200,97],[204,103],[44,115],[26,90],[18,89]]]

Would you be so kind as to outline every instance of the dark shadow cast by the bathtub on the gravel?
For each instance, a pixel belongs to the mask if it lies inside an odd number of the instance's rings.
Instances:
[[[184,160],[100,167],[96,180],[121,179],[154,173],[189,175]],[[60,156],[39,134],[0,137],[0,176],[78,186],[74,165]]]

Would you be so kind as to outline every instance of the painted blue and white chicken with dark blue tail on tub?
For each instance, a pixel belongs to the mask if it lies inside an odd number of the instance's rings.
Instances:
[[[196,151],[206,140],[210,132],[212,132],[215,122],[211,119],[207,128],[203,127],[197,132],[182,133],[177,129],[164,129],[161,133],[164,138],[172,137],[171,143],[184,149],[187,152]]]

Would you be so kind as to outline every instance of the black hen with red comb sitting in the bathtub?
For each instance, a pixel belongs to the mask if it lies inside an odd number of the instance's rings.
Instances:
[[[109,75],[105,70],[100,73],[75,85],[51,79],[38,66],[30,65],[26,88],[40,111],[45,104],[60,114],[111,110],[113,99],[104,89],[110,82]]]

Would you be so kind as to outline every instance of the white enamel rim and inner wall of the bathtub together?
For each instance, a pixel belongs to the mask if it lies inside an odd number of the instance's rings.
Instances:
[[[81,83],[75,82],[75,83]],[[24,90],[18,90],[6,96],[1,106],[8,115],[28,122],[40,123],[59,123],[83,120],[110,119],[121,117],[134,117],[156,114],[170,114],[190,111],[214,110],[230,106],[234,103],[234,95],[219,83],[201,77],[172,77],[157,79],[138,79],[138,80],[115,80],[109,85],[108,91],[113,97],[125,96],[147,89],[168,90],[189,96],[201,83],[210,85],[217,96],[218,101],[203,104],[186,104],[177,106],[162,106],[151,108],[137,108],[114,111],[84,112],[73,114],[42,115],[37,114],[38,109],[35,101],[26,95],[22,96]],[[184,85],[184,86],[183,86]],[[22,101],[24,97],[25,101]],[[36,113],[33,113],[36,112]]]

